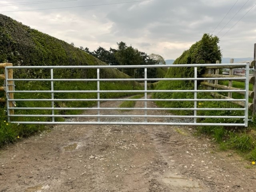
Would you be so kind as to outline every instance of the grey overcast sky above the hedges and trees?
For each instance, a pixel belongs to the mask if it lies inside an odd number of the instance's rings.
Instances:
[[[0,13],[90,51],[123,41],[176,59],[213,32],[223,57],[253,57],[255,5],[256,0],[0,0]]]

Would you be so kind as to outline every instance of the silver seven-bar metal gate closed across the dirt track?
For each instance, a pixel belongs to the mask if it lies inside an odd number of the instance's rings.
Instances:
[[[238,76],[238,77],[219,77],[219,78],[209,78],[209,77],[197,77],[197,67],[211,67],[211,66],[235,66],[235,67],[245,67],[246,68],[246,76]],[[144,68],[145,76],[144,78],[130,78],[130,79],[100,79],[100,69],[106,68]],[[194,77],[193,78],[147,78],[147,68],[163,68],[163,67],[194,67]],[[5,71],[7,74],[8,71],[12,69],[50,69],[50,79],[13,79],[13,77],[8,77],[6,75],[6,87],[13,86],[14,81],[51,81],[51,90],[50,91],[17,91],[17,90],[10,90],[9,88],[6,89],[7,94],[14,94],[15,92],[18,93],[33,93],[33,92],[41,92],[41,93],[52,93],[51,99],[14,99],[7,97],[7,111],[8,111],[8,121],[10,123],[26,123],[26,124],[84,124],[84,125],[196,125],[196,126],[245,126],[248,127],[248,91],[249,91],[249,63],[222,63],[222,64],[179,64],[179,65],[86,65],[86,66],[6,66]],[[54,69],[97,69],[97,79],[54,79],[53,70]],[[197,81],[198,80],[238,80],[244,79],[245,80],[245,89],[244,90],[197,90]],[[147,90],[147,81],[174,81],[174,80],[191,80],[194,81],[194,90]],[[54,91],[54,81],[96,81],[97,82],[97,91]],[[116,90],[112,91],[100,91],[100,81],[144,81],[144,91],[134,91],[134,90],[126,90],[130,93],[136,92],[144,92],[145,99],[100,99],[100,93],[111,93],[116,92]],[[124,91],[124,90],[122,90]],[[154,92],[194,92],[194,99],[147,99],[147,93],[154,93]],[[198,92],[245,92],[245,99],[197,99]],[[88,115],[54,115],[54,110],[66,109],[66,108],[55,108],[54,101],[71,101],[70,99],[54,99],[54,93],[97,93],[97,99],[72,99],[72,101],[97,101],[97,108],[90,107],[90,108],[69,108],[75,110],[86,110],[86,109],[97,109],[98,110],[98,121],[97,122],[56,122],[54,117],[89,117]],[[100,101],[144,101],[144,115],[133,115],[133,116],[126,116],[126,117],[144,117],[144,122],[102,122],[100,121],[100,117],[112,117],[111,115],[100,115],[100,110],[104,110],[100,108]],[[38,108],[38,107],[13,107],[10,103],[14,103],[16,101],[51,101],[52,107],[48,108]],[[194,108],[147,108],[147,101],[194,101]],[[197,108],[198,101],[243,101],[245,102],[244,108],[228,108],[228,109],[221,109],[221,108]],[[13,110],[32,110],[32,109],[47,109],[52,110],[52,115],[14,115],[11,113]],[[120,108],[106,108],[106,109],[120,109]],[[122,108],[124,109],[124,108]],[[136,110],[136,108],[128,108],[130,110]],[[185,115],[164,115],[164,117],[170,118],[194,118],[194,123],[152,123],[147,121],[147,117],[162,117],[157,115],[147,115],[148,110],[194,110],[194,116],[185,116]],[[68,110],[68,109],[67,109]],[[199,110],[243,110],[244,116],[198,116],[197,111]],[[10,121],[10,117],[52,117],[52,122],[38,122],[38,121]],[[94,115],[95,117],[95,115]],[[118,115],[115,115],[118,117]],[[123,116],[122,116],[123,117]],[[242,118],[244,119],[244,123],[196,123],[197,118]]]

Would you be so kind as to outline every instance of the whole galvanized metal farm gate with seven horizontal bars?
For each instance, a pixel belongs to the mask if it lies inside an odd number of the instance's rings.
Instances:
[[[237,67],[245,67],[246,68],[246,76],[238,76],[238,77],[218,77],[218,78],[210,78],[210,77],[197,77],[197,67],[206,67],[206,66],[237,66]],[[86,66],[6,66],[6,71],[9,69],[19,70],[19,69],[50,69],[50,78],[49,79],[18,79],[18,78],[10,78],[6,76],[6,83],[8,85],[11,84],[13,81],[50,81],[51,82],[51,90],[48,91],[31,91],[31,90],[7,90],[7,94],[15,94],[15,93],[51,93],[51,99],[19,99],[19,98],[7,98],[8,102],[20,102],[20,101],[47,101],[51,102],[51,107],[13,107],[7,105],[8,111],[8,118],[10,119],[11,123],[26,123],[26,124],[108,124],[108,125],[195,125],[195,126],[248,126],[248,91],[249,91],[249,63],[236,63],[236,64],[183,64],[183,65],[119,65],[118,68],[144,68],[144,78],[131,78],[131,79],[100,79],[100,69],[107,69],[107,68],[116,68],[117,66],[112,65],[86,65]],[[148,78],[147,77],[147,69],[148,68],[164,68],[164,67],[194,67],[194,77],[191,78]],[[96,79],[54,79],[53,70],[56,69],[97,69],[97,78]],[[17,74],[17,73],[16,73]],[[148,81],[194,81],[194,90],[148,90],[147,84]],[[245,81],[245,88],[242,90],[199,90],[197,89],[198,81],[202,80],[244,80]],[[95,81],[97,82],[97,90],[54,90],[54,82],[55,81]],[[144,81],[144,90],[100,90],[100,81]],[[142,93],[144,92],[144,99],[130,99],[130,98],[122,98],[122,99],[101,99],[100,93],[117,93],[119,91],[124,91],[127,93]],[[186,93],[186,92],[194,92],[194,99],[148,99],[148,93]],[[244,99],[198,99],[198,93],[200,92],[244,92]],[[97,99],[56,99],[54,97],[54,93],[97,93]],[[84,108],[76,108],[76,107],[54,107],[54,102],[56,101],[96,101],[96,107],[84,107]],[[140,108],[118,108],[118,107],[105,107],[101,108],[100,103],[102,101],[144,101],[144,107]],[[149,101],[191,101],[194,102],[193,108],[148,108]],[[242,101],[245,103],[244,108],[198,108],[197,104],[199,101]],[[101,115],[100,111],[102,110],[142,110],[144,111],[143,115]],[[33,115],[33,114],[12,114],[10,111],[24,111],[24,110],[49,110],[52,111],[51,115]],[[54,114],[55,110],[96,110],[97,115],[56,115]],[[149,111],[155,110],[162,110],[162,111],[170,111],[170,110],[190,110],[194,111],[194,115],[149,115]],[[225,111],[225,110],[232,110],[232,111],[244,111],[244,116],[202,116],[197,115],[197,111]],[[51,121],[16,121],[16,117],[51,117]],[[66,121],[66,122],[59,122],[56,121],[56,117],[94,117],[96,121]],[[144,120],[138,122],[128,122],[128,121],[102,121],[102,117],[114,117],[114,118],[123,118],[129,117],[135,118],[140,117]],[[149,118],[162,118],[163,121],[160,122],[150,122],[148,121]],[[173,119],[179,118],[181,121],[179,123],[175,122],[166,122],[166,119]],[[198,118],[238,118],[243,119],[244,123],[197,123]],[[183,119],[190,119],[190,122],[184,121]]]

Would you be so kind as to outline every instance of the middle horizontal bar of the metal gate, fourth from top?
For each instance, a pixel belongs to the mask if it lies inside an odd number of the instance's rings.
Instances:
[[[246,99],[8,99],[8,101],[246,101]]]

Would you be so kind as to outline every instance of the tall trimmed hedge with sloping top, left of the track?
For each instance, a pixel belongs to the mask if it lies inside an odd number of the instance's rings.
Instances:
[[[0,14],[0,63],[13,65],[106,65],[106,63],[89,55],[62,40],[31,29],[10,17]],[[95,78],[94,70],[59,70],[55,77]],[[115,69],[101,70],[104,77],[124,74]],[[25,75],[16,74],[16,75]],[[26,71],[27,77],[44,78],[45,70]],[[102,76],[102,77],[103,77]],[[127,75],[126,75],[127,76]],[[116,76],[114,76],[116,77]]]

